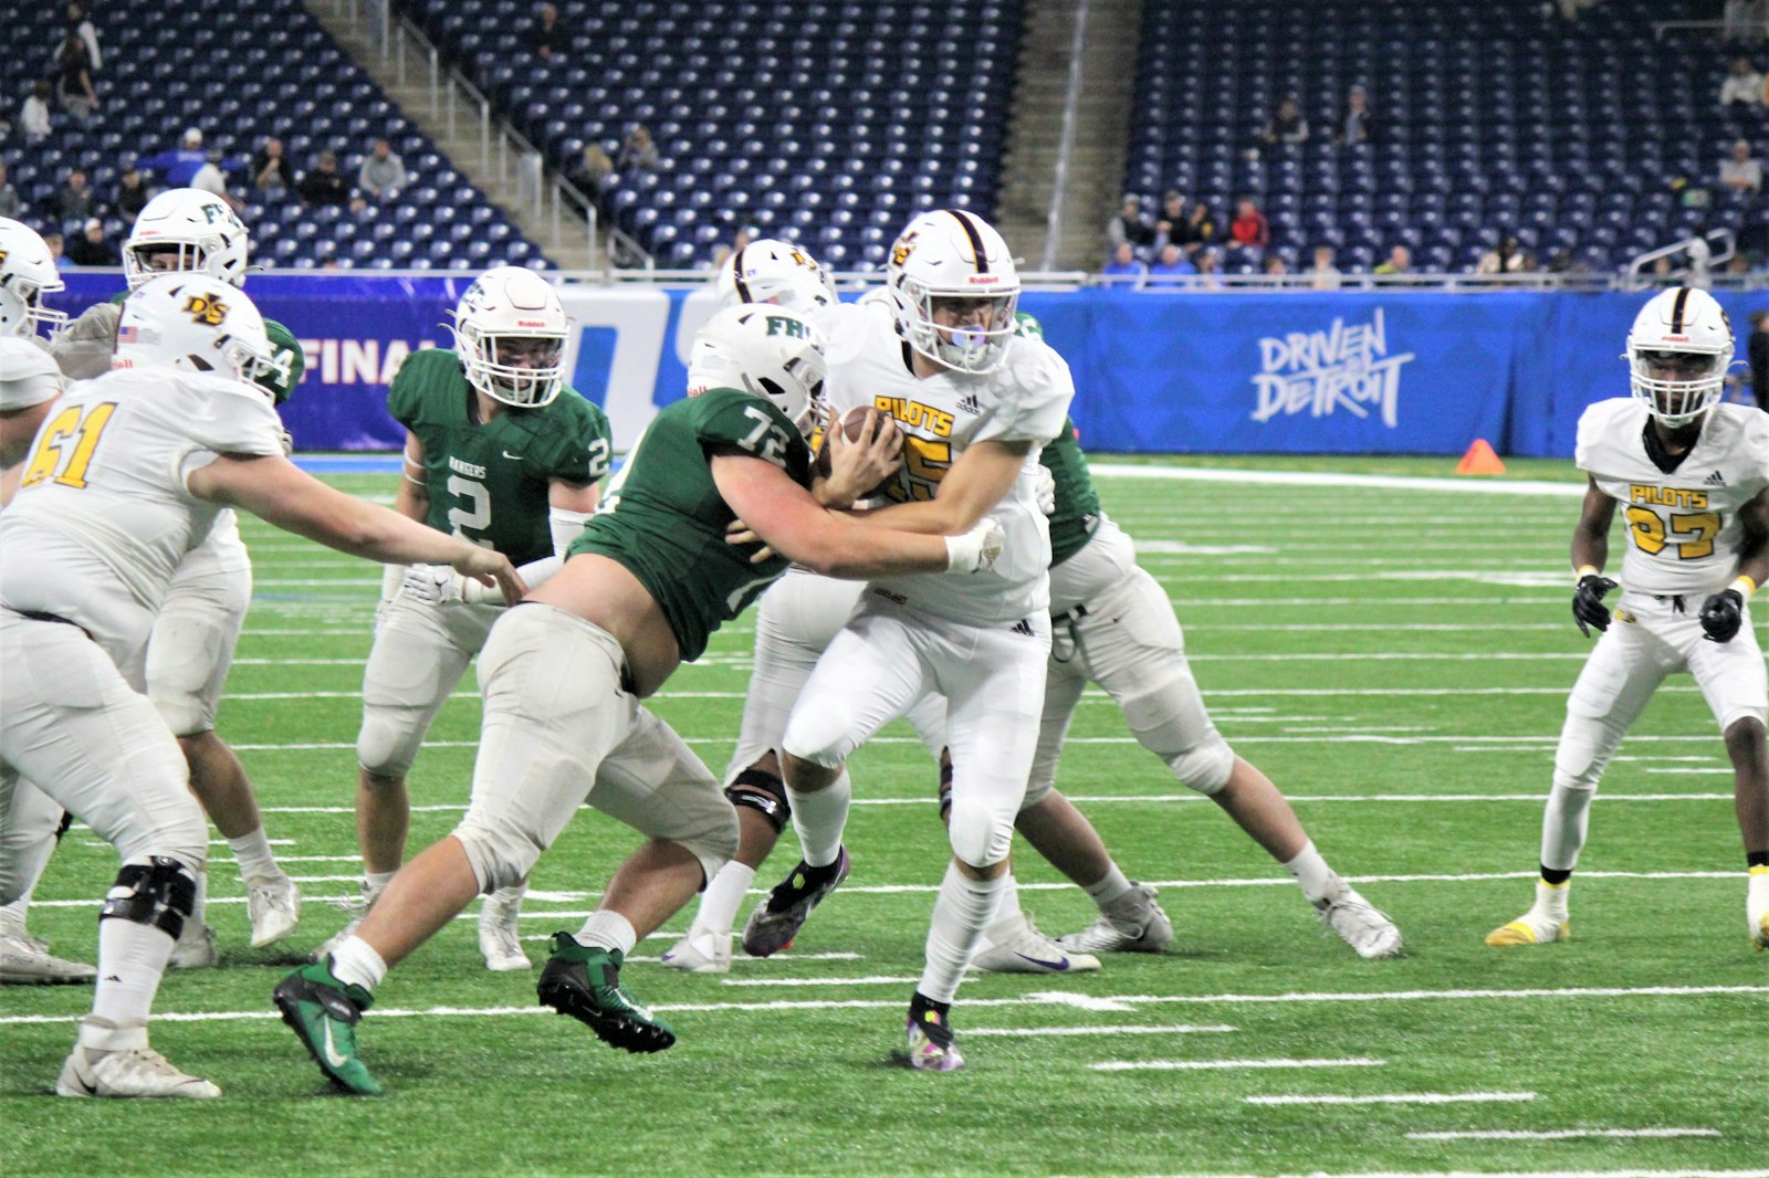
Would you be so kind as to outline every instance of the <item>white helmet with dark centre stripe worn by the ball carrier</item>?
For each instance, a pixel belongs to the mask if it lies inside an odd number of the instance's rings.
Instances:
[[[1001,233],[962,209],[923,212],[890,249],[886,279],[897,294],[897,329],[916,352],[959,371],[994,371],[1007,363],[1019,306],[1019,271]],[[934,322],[948,301],[982,310],[968,325]]]

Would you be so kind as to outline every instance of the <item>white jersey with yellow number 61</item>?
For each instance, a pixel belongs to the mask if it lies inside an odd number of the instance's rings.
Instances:
[[[168,370],[73,384],[0,513],[0,605],[65,617],[134,665],[173,570],[225,511],[184,490],[219,453],[283,453],[269,396]]]

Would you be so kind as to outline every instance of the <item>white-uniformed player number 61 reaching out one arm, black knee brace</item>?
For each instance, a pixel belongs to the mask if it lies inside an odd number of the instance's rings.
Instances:
[[[119,368],[73,384],[0,511],[0,902],[30,886],[7,840],[27,776],[122,868],[99,911],[92,1014],[57,1081],[64,1097],[216,1097],[149,1047],[147,1017],[196,904],[202,808],[165,718],[140,688],[154,607],[226,506],[375,561],[453,562],[524,585],[502,555],[336,492],[283,455],[264,320],[202,274],[133,290]]]

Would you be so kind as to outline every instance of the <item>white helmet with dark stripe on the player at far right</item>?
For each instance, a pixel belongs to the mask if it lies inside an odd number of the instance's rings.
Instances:
[[[1666,426],[1712,409],[1732,366],[1732,320],[1714,295],[1679,287],[1652,295],[1627,333],[1635,400]]]

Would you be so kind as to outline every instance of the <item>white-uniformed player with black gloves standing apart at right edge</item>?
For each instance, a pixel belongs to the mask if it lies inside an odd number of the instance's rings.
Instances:
[[[1732,759],[1750,872],[1744,914],[1769,948],[1769,715],[1750,600],[1769,578],[1769,416],[1721,403],[1732,324],[1705,290],[1654,295],[1627,333],[1633,396],[1590,405],[1574,462],[1589,476],[1573,529],[1573,621],[1601,631],[1566,702],[1543,815],[1535,904],[1488,945],[1567,939],[1567,890],[1604,766],[1666,676],[1688,670]],[[1603,575],[1617,504],[1622,594]]]

